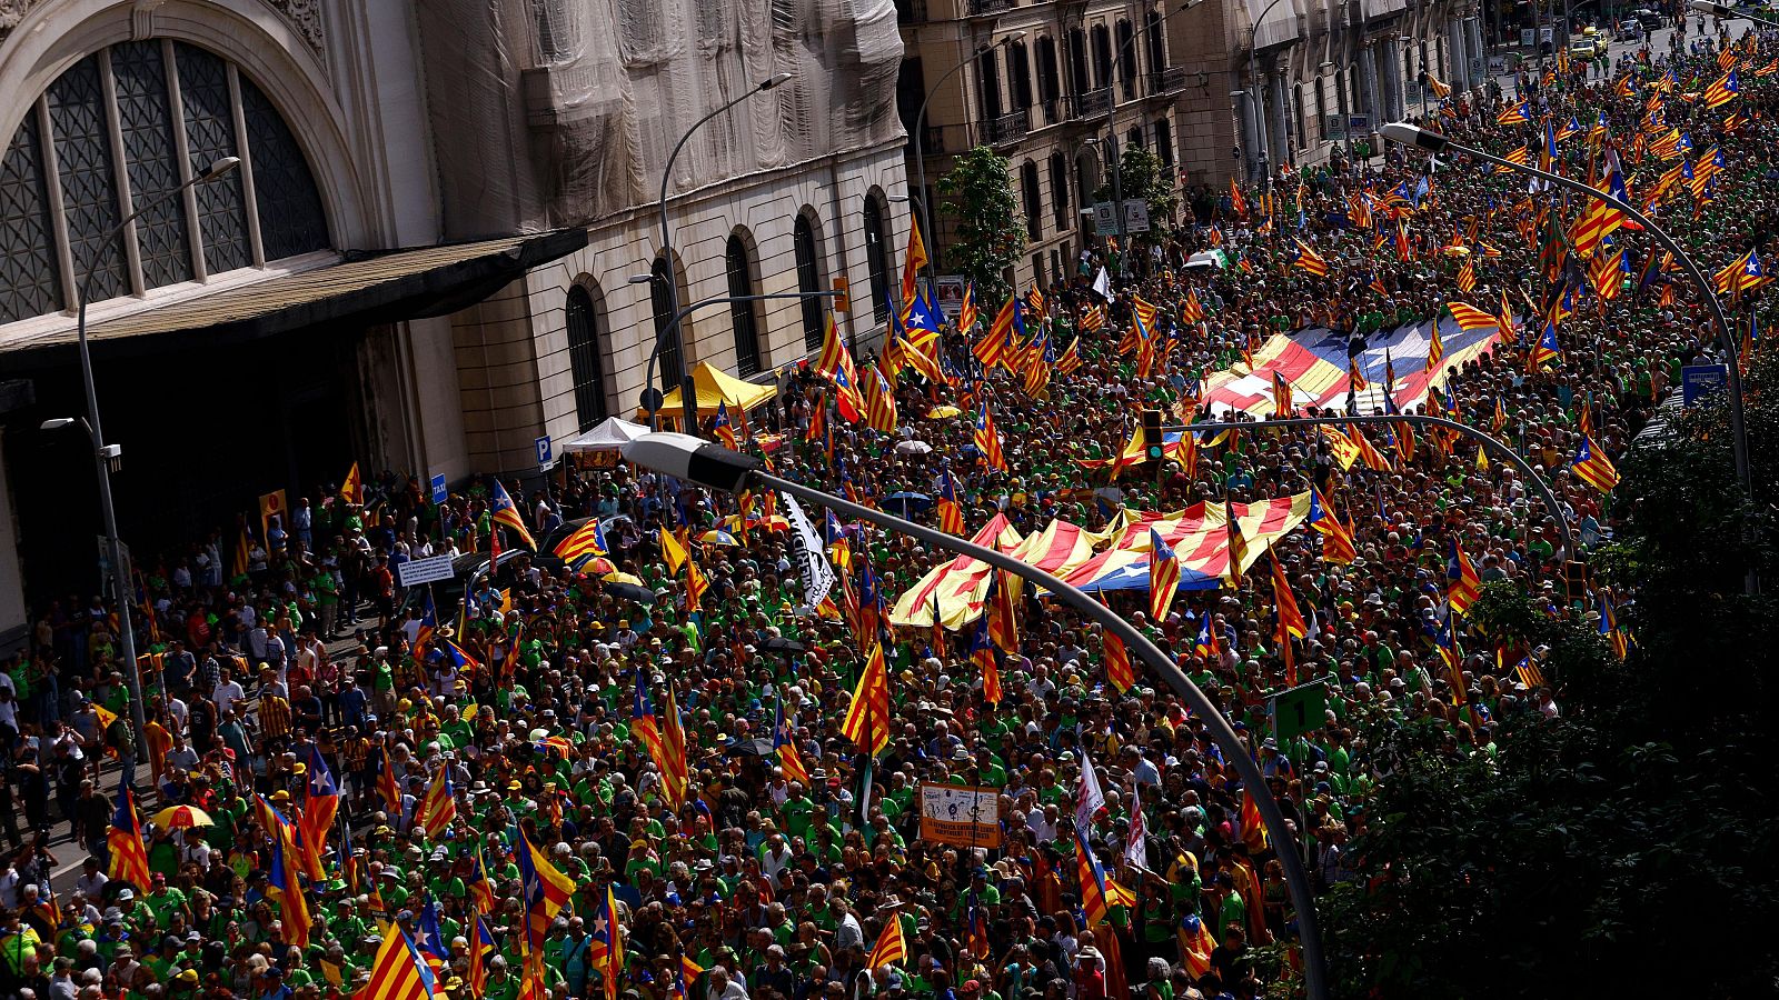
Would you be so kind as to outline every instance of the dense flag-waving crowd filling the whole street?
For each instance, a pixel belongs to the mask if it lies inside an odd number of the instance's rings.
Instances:
[[[1553,62],[1514,96],[1450,93],[1427,125],[1622,190],[1719,274],[1751,340],[1775,52],[1713,36],[1603,78]],[[144,560],[141,738],[112,609],[39,609],[0,674],[0,989],[1268,995],[1302,972],[1279,852],[1316,891],[1356,879],[1391,731],[1430,721],[1439,753],[1491,754],[1501,728],[1560,712],[1542,649],[1471,628],[1487,584],[1630,641],[1635,594],[1566,564],[1610,537],[1612,463],[1679,368],[1735,363],[1624,217],[1402,149],[1284,165],[1067,283],[886,326],[857,354],[831,335],[765,406],[701,432],[1005,552],[1073,532],[1053,568],[1101,582],[1263,786],[1098,625],[891,530],[621,461],[535,491],[480,477],[445,504],[354,466],[288,523]],[[1332,402],[1270,361],[1304,331],[1350,345]],[[1420,347],[1379,375],[1379,338]],[[1220,404],[1240,379],[1261,402]],[[1144,409],[1348,406],[1478,429],[1557,509],[1500,452],[1407,423],[1140,448]],[[406,562],[489,550],[495,569],[455,587],[398,585]],[[1078,573],[1108,552],[1121,575]],[[834,571],[825,594],[811,560]],[[1304,685],[1320,717],[1279,730],[1268,699]],[[993,806],[966,838],[938,822],[932,802],[977,790]]]

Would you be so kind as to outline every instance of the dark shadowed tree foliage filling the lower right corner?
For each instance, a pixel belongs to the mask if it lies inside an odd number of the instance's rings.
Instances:
[[[1756,489],[1779,482],[1775,375],[1749,374]],[[1477,628],[1551,648],[1562,715],[1503,721],[1493,756],[1432,724],[1389,738],[1363,879],[1325,900],[1336,995],[1772,996],[1779,614],[1743,573],[1779,585],[1779,548],[1770,498],[1743,504],[1733,470],[1722,406],[1621,463],[1628,520],[1596,573],[1637,594],[1626,662],[1587,623],[1485,591]]]

